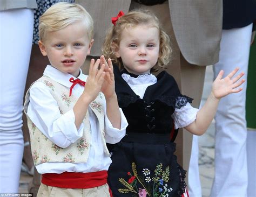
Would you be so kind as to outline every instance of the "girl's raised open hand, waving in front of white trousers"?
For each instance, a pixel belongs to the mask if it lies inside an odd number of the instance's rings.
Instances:
[[[244,76],[244,73],[241,72],[239,75],[233,78],[233,76],[235,75],[235,73],[238,72],[238,70],[239,68],[235,68],[225,78],[223,78],[224,71],[221,70],[219,72],[217,78],[214,80],[212,85],[212,93],[215,98],[220,99],[228,94],[238,93],[242,90],[242,88],[238,88],[238,87],[245,82],[245,79],[240,80],[240,78]]]

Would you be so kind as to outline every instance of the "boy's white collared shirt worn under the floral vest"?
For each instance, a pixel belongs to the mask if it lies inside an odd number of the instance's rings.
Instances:
[[[62,73],[58,69],[47,66],[44,75],[49,76],[58,83],[71,87],[72,83],[70,78],[74,78],[68,73]],[[87,75],[80,74],[80,80],[86,81]],[[75,79],[75,78],[74,78]],[[72,89],[72,94],[79,97],[83,93],[84,87],[77,84]],[[60,147],[68,147],[71,143],[76,142],[77,139],[82,137],[84,125],[80,125],[77,130],[75,125],[75,114],[73,109],[60,114],[59,107],[56,100],[50,93],[49,88],[43,82],[37,82],[30,88],[30,102],[28,105],[27,114],[31,121],[37,126],[42,133],[48,137],[51,142]],[[127,120],[123,114],[122,109],[119,108],[121,113],[121,129],[113,128],[109,118],[106,116],[105,105],[105,139],[107,143],[117,143],[125,136],[125,129],[128,125]],[[111,159],[104,153],[102,140],[100,138],[99,123],[96,115],[89,108],[89,121],[91,125],[91,147],[87,163],[43,163],[36,166],[37,171],[43,173],[62,173],[62,172],[97,172],[108,170]]]

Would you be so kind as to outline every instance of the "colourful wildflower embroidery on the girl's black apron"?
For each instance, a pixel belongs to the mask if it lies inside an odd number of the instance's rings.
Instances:
[[[165,170],[163,170],[163,164],[158,164],[156,169],[154,170],[154,176],[151,177],[149,168],[143,168],[143,177],[140,177],[137,172],[136,164],[132,163],[132,171],[127,172],[130,176],[130,179],[126,181],[124,178],[119,178],[118,180],[126,187],[126,188],[119,188],[118,191],[120,193],[136,193],[139,197],[163,197],[169,196],[169,193],[173,190],[171,187],[167,188],[167,182],[169,181],[170,176],[170,167],[167,166]],[[153,182],[152,184],[150,184]],[[139,184],[139,185],[138,185]],[[164,185],[165,184],[165,185]],[[138,186],[143,186],[140,188]],[[153,195],[151,195],[151,193]]]

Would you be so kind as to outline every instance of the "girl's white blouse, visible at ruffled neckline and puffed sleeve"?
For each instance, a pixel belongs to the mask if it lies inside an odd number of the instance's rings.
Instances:
[[[157,82],[157,78],[153,74],[139,75],[137,78],[133,78],[129,74],[124,73],[122,78],[140,98],[143,98],[147,87]],[[175,109],[172,114],[174,128],[178,129],[190,125],[197,118],[197,112],[198,109],[193,108],[190,103],[186,103],[180,109]]]

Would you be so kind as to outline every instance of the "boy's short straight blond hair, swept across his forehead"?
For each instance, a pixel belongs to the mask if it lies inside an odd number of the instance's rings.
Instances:
[[[46,10],[39,19],[39,39],[44,41],[47,32],[58,31],[66,26],[84,22],[89,40],[93,37],[93,20],[82,5],[59,2]]]

